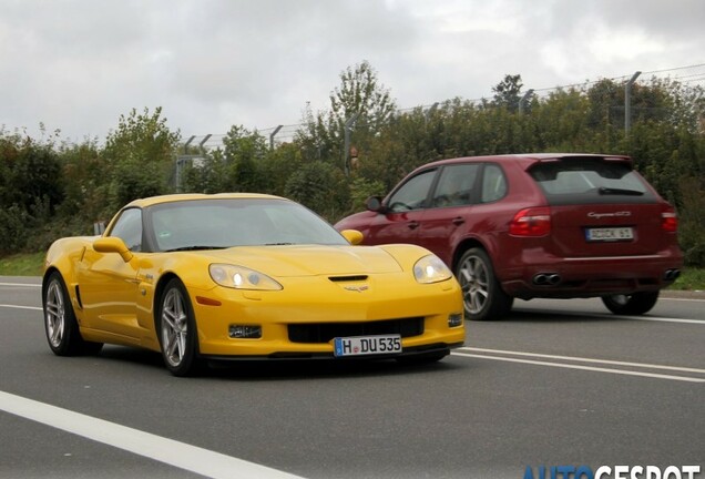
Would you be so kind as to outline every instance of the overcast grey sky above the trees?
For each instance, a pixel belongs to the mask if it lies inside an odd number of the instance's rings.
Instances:
[[[0,129],[296,124],[364,60],[400,109],[490,98],[703,64],[704,26],[703,0],[0,0]]]

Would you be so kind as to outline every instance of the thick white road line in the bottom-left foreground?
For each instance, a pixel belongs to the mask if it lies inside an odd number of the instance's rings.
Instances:
[[[0,391],[0,410],[208,478],[294,479],[276,469]]]

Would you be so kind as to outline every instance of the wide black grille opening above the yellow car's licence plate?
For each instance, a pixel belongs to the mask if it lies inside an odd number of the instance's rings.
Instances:
[[[401,337],[423,334],[423,318],[410,317],[366,323],[313,323],[288,325],[292,343],[328,343],[335,337],[398,334]]]

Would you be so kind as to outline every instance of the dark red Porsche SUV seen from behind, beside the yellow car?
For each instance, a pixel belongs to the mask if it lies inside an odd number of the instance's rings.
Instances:
[[[643,314],[683,264],[675,210],[629,156],[437,161],[367,210],[336,228],[436,253],[460,282],[469,319],[499,318],[515,297],[600,296],[615,314]]]

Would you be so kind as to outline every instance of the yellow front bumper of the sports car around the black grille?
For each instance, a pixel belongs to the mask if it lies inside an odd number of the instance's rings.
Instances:
[[[409,285],[382,282],[364,292],[330,284],[297,281],[278,292],[236,291],[217,287],[190,289],[198,329],[198,350],[212,359],[333,358],[333,337],[400,334],[399,357],[450,350],[464,342],[460,287],[454,279]],[[203,298],[207,298],[204,302]],[[215,305],[217,304],[217,305]],[[413,323],[419,326],[409,327]],[[231,325],[259,326],[258,338],[232,338]],[[325,334],[302,334],[303,329]],[[365,356],[365,359],[377,356]]]

